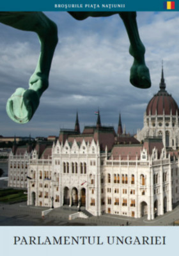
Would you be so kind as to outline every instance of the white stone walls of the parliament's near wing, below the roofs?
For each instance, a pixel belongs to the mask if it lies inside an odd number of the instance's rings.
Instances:
[[[135,145],[116,145],[135,150]],[[179,199],[178,160],[163,148],[152,154],[143,145],[136,159],[113,159],[100,152],[95,141],[60,144],[52,147],[51,159],[29,160],[27,204],[47,207],[79,205],[95,216],[103,213],[148,220],[172,210]]]

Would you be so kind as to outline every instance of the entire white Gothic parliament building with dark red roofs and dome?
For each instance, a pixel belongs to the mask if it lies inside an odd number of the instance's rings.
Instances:
[[[53,143],[14,143],[8,186],[27,188],[27,205],[153,220],[179,201],[178,113],[162,68],[136,138],[123,132],[121,116],[118,131],[102,126],[99,111],[97,124],[81,133],[77,114],[75,128],[61,129]]]

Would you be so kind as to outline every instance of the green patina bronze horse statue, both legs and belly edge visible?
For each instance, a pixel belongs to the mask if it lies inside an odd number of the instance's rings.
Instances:
[[[119,14],[127,29],[130,54],[134,63],[130,69],[130,83],[138,88],[151,86],[149,70],[144,61],[144,45],[140,40],[136,12],[69,12],[77,20],[88,17],[107,17]],[[17,88],[8,99],[6,111],[13,121],[25,124],[38,108],[42,93],[49,86],[49,72],[58,43],[58,29],[42,12],[0,12],[0,22],[24,31],[34,31],[40,39],[41,51],[35,72],[29,79],[29,88]]]

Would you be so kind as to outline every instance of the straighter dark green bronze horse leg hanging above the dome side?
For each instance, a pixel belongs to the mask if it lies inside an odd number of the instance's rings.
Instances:
[[[119,13],[130,41],[129,52],[134,57],[134,63],[130,68],[130,83],[138,88],[150,88],[150,73],[144,61],[145,48],[139,37],[137,29],[136,12]]]

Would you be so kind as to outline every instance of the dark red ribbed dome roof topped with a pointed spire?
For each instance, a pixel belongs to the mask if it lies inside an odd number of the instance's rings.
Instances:
[[[162,78],[160,82],[160,90],[148,103],[146,108],[146,115],[176,115],[176,111],[179,114],[178,105],[175,100],[167,91],[165,90],[166,84],[164,83],[164,74],[162,68]]]

